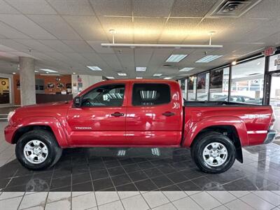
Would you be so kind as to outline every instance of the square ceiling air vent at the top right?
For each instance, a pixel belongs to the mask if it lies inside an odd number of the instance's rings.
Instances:
[[[225,0],[222,1],[208,16],[214,18],[239,18],[262,0]]]

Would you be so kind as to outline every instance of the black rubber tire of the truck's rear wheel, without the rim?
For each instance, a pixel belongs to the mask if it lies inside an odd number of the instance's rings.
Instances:
[[[225,158],[223,165],[211,166],[206,161],[204,161],[204,148],[214,142],[222,144],[228,151],[228,157]],[[205,132],[195,139],[195,142],[191,147],[191,156],[197,167],[199,167],[202,172],[209,174],[220,174],[230,169],[230,167],[232,167],[232,165],[235,163],[236,150],[233,142],[225,135],[218,132]]]

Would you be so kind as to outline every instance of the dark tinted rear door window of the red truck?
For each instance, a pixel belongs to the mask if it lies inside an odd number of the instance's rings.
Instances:
[[[133,85],[132,105],[153,106],[170,102],[170,87],[167,84],[139,83]]]

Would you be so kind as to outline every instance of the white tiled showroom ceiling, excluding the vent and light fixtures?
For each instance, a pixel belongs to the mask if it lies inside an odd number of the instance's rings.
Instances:
[[[262,0],[239,18],[209,15],[223,0],[0,0],[0,72],[18,71],[18,57],[36,59],[36,69],[59,73],[113,76],[182,78],[188,74],[253,55],[267,46],[280,45],[280,1]],[[223,57],[206,64],[195,63],[205,50],[172,48],[102,48],[116,43],[212,44],[221,49],[208,55]],[[171,54],[188,54],[172,67],[162,67]],[[91,71],[86,66],[99,66]],[[146,66],[136,72],[136,66]],[[43,72],[42,72],[43,73]],[[124,78],[124,77],[122,77]]]

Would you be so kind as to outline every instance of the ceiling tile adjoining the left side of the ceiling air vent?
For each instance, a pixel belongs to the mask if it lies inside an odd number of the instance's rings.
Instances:
[[[176,0],[172,17],[204,17],[218,0]]]

